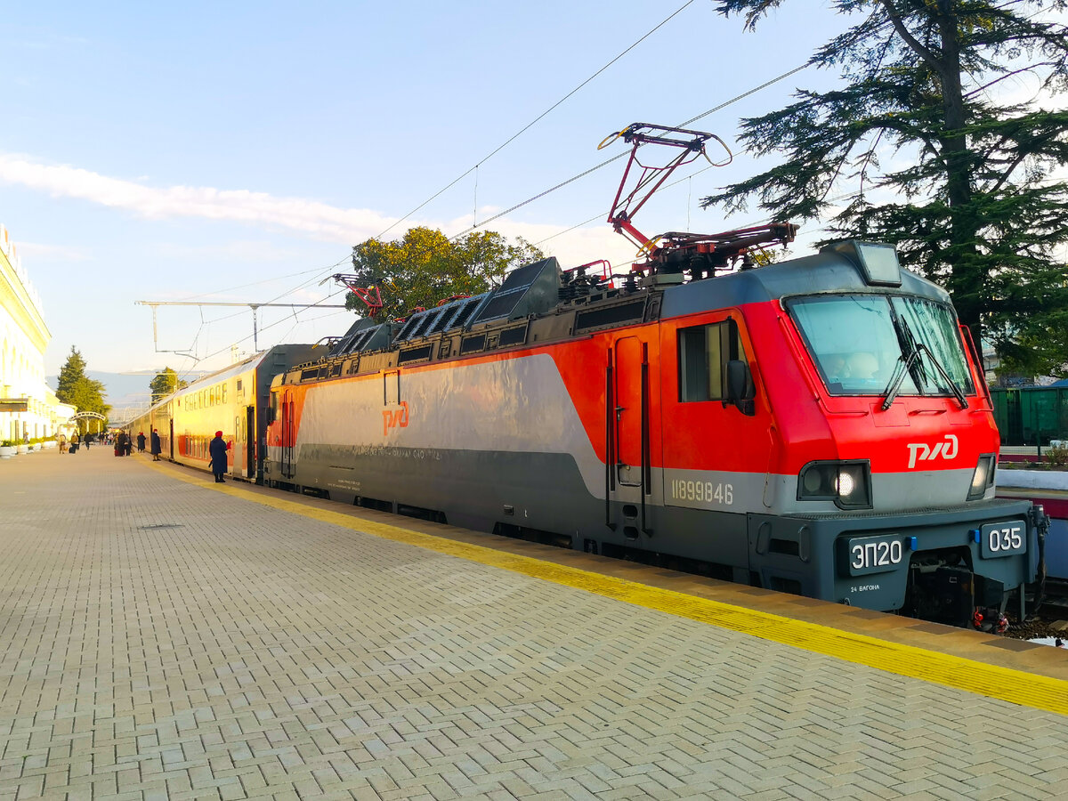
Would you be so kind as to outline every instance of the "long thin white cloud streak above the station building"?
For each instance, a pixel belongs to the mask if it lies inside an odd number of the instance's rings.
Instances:
[[[122,208],[150,219],[200,217],[299,231],[316,239],[351,244],[375,236],[395,218],[363,208],[339,208],[301,198],[247,189],[155,188],[68,164],[44,164],[0,154],[0,182]]]

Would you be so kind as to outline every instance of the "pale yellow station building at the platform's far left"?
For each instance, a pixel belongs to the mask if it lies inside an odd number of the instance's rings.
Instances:
[[[41,298],[0,225],[0,441],[51,437],[75,413],[45,382],[51,339]]]

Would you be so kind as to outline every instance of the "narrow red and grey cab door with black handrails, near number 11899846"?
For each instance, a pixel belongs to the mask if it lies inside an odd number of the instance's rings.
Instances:
[[[653,492],[649,452],[649,345],[637,336],[609,350],[606,383],[606,523],[628,539],[651,534],[646,501]]]

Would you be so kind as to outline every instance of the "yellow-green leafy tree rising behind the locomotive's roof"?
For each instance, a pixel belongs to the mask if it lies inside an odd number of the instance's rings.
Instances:
[[[544,257],[522,238],[513,245],[492,231],[452,241],[440,231],[414,227],[395,241],[367,239],[352,248],[355,284],[381,290],[383,319],[419,307],[429,309],[454,295],[487,292],[500,285],[509,269]],[[345,305],[362,309],[363,302],[350,292]]]

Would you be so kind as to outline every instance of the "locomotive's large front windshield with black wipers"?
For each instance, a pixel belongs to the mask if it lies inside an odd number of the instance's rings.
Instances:
[[[888,295],[824,295],[786,305],[832,395],[974,392],[947,305]]]

